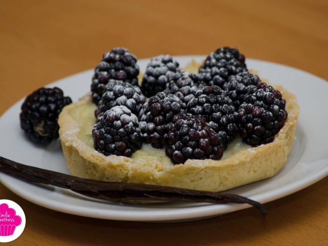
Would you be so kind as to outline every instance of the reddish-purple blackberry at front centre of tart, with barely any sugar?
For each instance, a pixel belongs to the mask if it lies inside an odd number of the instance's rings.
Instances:
[[[223,145],[205,118],[192,114],[177,116],[165,150],[174,164],[184,163],[187,159],[221,159]]]

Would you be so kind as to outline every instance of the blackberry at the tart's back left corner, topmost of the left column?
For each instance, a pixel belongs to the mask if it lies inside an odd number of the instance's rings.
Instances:
[[[123,47],[113,48],[102,55],[92,77],[92,101],[97,104],[109,79],[122,80],[138,85],[139,67],[137,58]]]

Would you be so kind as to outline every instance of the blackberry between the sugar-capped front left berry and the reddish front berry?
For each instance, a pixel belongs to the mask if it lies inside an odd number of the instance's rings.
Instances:
[[[144,103],[139,113],[140,130],[145,143],[160,149],[167,144],[174,115],[183,111],[179,97],[158,92]]]

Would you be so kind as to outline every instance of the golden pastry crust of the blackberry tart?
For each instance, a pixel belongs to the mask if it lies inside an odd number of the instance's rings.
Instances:
[[[296,96],[281,86],[274,87],[286,99],[288,118],[272,143],[249,147],[222,160],[190,159],[178,165],[163,161],[165,157],[162,156],[128,158],[104,156],[97,152],[92,146],[91,131],[83,133],[84,129],[90,129],[94,124],[93,114],[76,113],[79,108],[81,112],[86,111],[83,108],[86,105],[93,110],[91,93],[88,93],[79,101],[64,107],[59,116],[59,134],[67,166],[73,175],[84,178],[212,192],[225,191],[274,176],[287,162],[299,115]],[[86,117],[89,120],[85,120]],[[89,126],[85,126],[86,121]],[[86,139],[91,139],[91,142]]]

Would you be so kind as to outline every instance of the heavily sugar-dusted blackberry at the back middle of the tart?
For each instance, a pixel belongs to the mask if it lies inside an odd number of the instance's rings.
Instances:
[[[180,73],[179,63],[171,55],[151,58],[142,79],[141,91],[146,97],[156,95],[165,90],[176,73]]]

